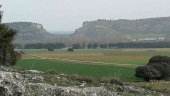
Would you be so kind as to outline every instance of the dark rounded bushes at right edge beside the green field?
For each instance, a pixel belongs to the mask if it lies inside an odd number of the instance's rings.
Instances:
[[[136,76],[146,81],[151,79],[167,79],[170,77],[170,57],[154,56],[145,66],[136,68]]]

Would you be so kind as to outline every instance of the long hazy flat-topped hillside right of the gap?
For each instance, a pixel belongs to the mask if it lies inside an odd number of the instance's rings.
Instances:
[[[170,17],[86,21],[71,36],[93,42],[168,40]]]

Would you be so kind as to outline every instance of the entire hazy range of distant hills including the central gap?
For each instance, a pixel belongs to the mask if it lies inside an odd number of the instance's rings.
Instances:
[[[51,34],[38,23],[5,23],[18,31],[16,43],[117,43],[170,41],[170,17],[86,21],[73,34]],[[63,33],[63,32],[61,32]]]

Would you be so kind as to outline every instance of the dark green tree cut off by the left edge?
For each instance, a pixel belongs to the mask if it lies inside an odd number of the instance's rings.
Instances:
[[[1,23],[2,13],[0,11],[0,65],[9,66],[14,65],[17,61],[17,54],[12,44],[16,30]]]

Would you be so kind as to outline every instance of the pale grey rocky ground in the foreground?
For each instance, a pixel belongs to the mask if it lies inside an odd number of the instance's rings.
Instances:
[[[152,96],[153,94],[152,91],[131,85],[113,84],[109,87],[102,84],[95,87],[47,84],[43,74],[34,70],[16,72],[10,68],[0,67],[0,96],[127,96],[128,94]],[[66,77],[64,74],[55,75],[55,77],[60,81],[69,79],[61,79]]]

